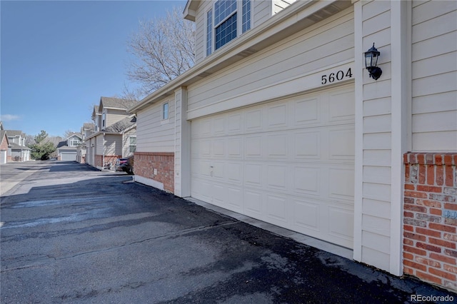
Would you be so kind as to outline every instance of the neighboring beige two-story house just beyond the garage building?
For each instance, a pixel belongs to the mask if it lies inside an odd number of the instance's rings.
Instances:
[[[85,138],[86,163],[96,168],[114,166],[117,158],[133,155],[136,148],[136,116],[126,109],[135,101],[101,97],[94,106],[95,132]]]

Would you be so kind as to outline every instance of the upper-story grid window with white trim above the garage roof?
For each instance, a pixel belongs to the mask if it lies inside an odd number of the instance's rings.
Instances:
[[[238,12],[240,12],[238,14]],[[241,24],[241,25],[240,25]],[[206,56],[251,29],[251,0],[218,0],[206,13]]]

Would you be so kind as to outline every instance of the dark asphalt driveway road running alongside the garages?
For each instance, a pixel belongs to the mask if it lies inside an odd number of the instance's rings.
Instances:
[[[1,196],[1,303],[457,299],[132,183],[124,173],[56,161],[0,171],[2,185],[15,183]]]

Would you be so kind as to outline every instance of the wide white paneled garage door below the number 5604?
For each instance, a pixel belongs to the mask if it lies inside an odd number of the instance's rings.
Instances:
[[[191,196],[353,247],[353,86],[191,122]]]

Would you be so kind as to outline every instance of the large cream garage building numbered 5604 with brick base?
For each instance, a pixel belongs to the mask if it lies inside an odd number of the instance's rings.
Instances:
[[[191,0],[184,17],[196,65],[129,108],[135,180],[457,290],[457,1]]]

